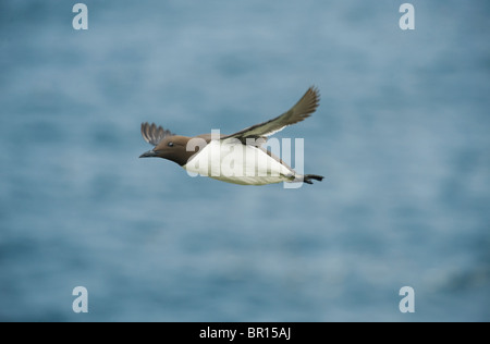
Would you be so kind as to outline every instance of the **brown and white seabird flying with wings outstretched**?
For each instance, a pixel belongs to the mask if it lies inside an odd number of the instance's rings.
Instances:
[[[139,158],[167,159],[184,168],[192,176],[205,175],[240,185],[321,182],[323,176],[297,173],[262,147],[269,136],[310,116],[319,100],[318,88],[311,86],[283,114],[231,135],[213,132],[194,137],[181,136],[145,122],[142,123],[142,136],[154,148]]]

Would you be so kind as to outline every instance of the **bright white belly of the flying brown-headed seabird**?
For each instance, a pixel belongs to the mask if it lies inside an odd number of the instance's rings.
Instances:
[[[228,183],[264,185],[291,181],[294,172],[260,148],[236,139],[211,140],[183,167],[189,175]]]

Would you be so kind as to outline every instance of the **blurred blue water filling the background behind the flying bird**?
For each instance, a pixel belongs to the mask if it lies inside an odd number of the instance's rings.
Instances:
[[[85,3],[0,2],[0,320],[490,320],[488,1]],[[137,159],[140,122],[233,133],[313,84],[278,136],[322,183]]]

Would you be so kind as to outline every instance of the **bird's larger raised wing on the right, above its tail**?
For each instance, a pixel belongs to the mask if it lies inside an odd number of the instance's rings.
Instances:
[[[282,131],[287,125],[295,124],[308,118],[315,112],[320,101],[320,95],[316,87],[310,87],[306,94],[299,99],[299,101],[292,107],[287,112],[284,112],[280,116],[272,119],[270,121],[256,124],[244,128],[235,134],[231,134],[222,137],[225,138],[237,138],[245,144],[246,138],[265,138],[274,133]]]

